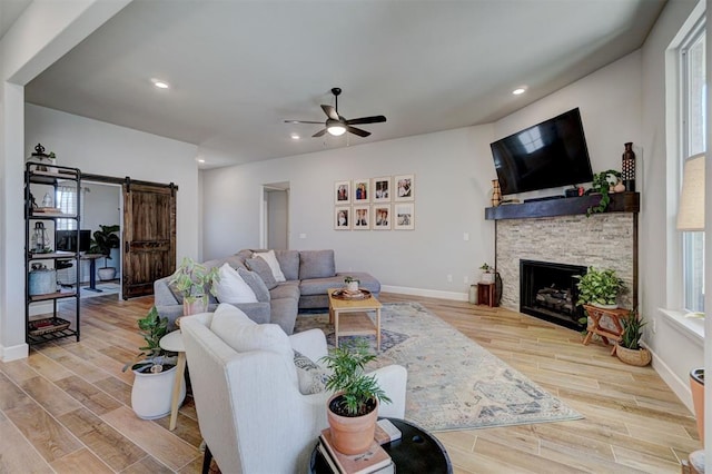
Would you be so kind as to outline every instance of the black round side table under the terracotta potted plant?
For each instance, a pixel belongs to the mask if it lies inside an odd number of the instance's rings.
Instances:
[[[383,445],[396,466],[396,473],[452,474],[453,465],[445,447],[425,429],[411,422],[388,418],[400,433],[400,440]],[[318,445],[318,442],[317,442]],[[309,461],[309,473],[330,474],[332,470],[322,453],[314,447]]]

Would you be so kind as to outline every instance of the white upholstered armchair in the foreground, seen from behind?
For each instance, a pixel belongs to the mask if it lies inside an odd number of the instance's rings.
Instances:
[[[211,456],[224,473],[303,472],[319,433],[328,426],[330,394],[299,392],[293,348],[318,364],[327,354],[324,333],[312,329],[287,336],[277,325],[256,325],[247,316],[248,323],[241,317],[226,319],[227,312],[230,318],[236,317],[234,310],[241,312],[222,306],[215,314],[180,320],[207,445],[204,472]],[[379,415],[402,418],[406,369],[388,366],[374,374],[393,401],[382,404]]]

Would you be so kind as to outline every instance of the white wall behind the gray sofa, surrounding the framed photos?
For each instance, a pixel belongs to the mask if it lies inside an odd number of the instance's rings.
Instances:
[[[260,186],[289,181],[289,248],[333,248],[340,271],[464,299],[464,277],[472,283],[494,257],[494,224],[483,217],[492,140],[492,127],[471,127],[205,171],[204,257],[255,248]],[[404,174],[415,175],[415,230],[334,230],[335,181]]]

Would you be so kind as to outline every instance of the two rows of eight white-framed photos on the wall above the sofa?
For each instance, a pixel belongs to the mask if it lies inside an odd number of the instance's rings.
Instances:
[[[334,229],[415,229],[415,176],[395,175],[336,181]]]

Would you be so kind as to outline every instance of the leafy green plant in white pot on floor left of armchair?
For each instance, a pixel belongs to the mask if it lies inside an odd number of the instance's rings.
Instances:
[[[156,419],[170,413],[174,383],[176,382],[176,355],[160,347],[160,339],[168,333],[168,318],[161,318],[154,306],[150,312],[138,319],[138,328],[146,345],[139,347],[140,353],[123,366],[134,371],[131,387],[131,408],[139,418]],[[179,401],[186,396],[182,381]],[[179,402],[179,403],[180,403]]]

